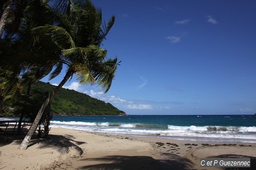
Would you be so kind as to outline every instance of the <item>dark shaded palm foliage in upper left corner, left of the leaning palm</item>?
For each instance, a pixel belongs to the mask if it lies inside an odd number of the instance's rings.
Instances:
[[[60,50],[56,52],[56,49],[59,49],[56,48],[56,44],[46,43],[42,45],[42,48],[47,48],[47,50],[41,50],[40,46],[34,44],[34,39],[32,39],[34,37],[31,35],[32,28],[53,24],[56,20],[56,15],[47,2],[6,0],[5,3],[2,1],[0,3],[1,7],[5,7],[0,8],[2,17],[8,16],[7,19],[1,18],[1,22],[5,22],[5,36],[0,39],[0,69],[11,71],[12,75],[15,75],[13,78],[5,76],[5,81],[2,79],[0,82],[0,111],[6,96],[15,90],[11,89],[15,86],[10,86],[10,83],[5,82],[17,81],[22,76],[23,79],[19,80],[19,83],[28,82],[31,86],[32,83],[49,74],[54,66],[57,66],[56,70],[60,72],[61,68],[58,67]],[[26,4],[25,7],[24,4]],[[10,14],[5,14],[8,12],[6,11],[7,5],[11,5]],[[18,15],[20,11],[24,11],[22,15]],[[15,22],[16,20],[18,22]],[[2,74],[2,78],[4,75],[6,74]],[[6,80],[7,78],[10,80]],[[30,86],[28,86],[27,94],[30,92]],[[5,89],[7,91],[3,92]]]

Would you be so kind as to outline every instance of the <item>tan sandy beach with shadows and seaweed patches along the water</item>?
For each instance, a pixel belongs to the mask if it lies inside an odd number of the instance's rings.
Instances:
[[[256,143],[192,142],[52,128],[46,139],[0,135],[0,169],[206,169],[200,158],[250,158]],[[221,169],[221,168],[210,168]]]

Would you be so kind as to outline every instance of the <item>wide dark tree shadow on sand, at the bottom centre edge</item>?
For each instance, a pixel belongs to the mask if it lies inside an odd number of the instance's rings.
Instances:
[[[167,155],[166,155],[167,156]],[[96,161],[97,164],[85,165],[80,169],[110,170],[110,169],[192,169],[193,163],[189,159],[175,154],[168,155],[167,160],[156,160],[150,156],[105,156],[102,158],[82,159],[86,162]]]

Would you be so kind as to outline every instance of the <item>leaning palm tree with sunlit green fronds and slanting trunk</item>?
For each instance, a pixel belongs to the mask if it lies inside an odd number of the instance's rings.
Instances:
[[[114,24],[114,16],[106,24],[102,21],[101,10],[94,7],[89,0],[72,4],[71,7],[69,14],[59,14],[61,22],[56,22],[59,26],[45,25],[32,30],[35,44],[42,44],[44,39],[49,40],[49,37],[57,44],[61,49],[58,66],[62,67],[65,64],[68,70],[59,86],[46,97],[30,130],[19,146],[20,149],[27,148],[49,101],[74,74],[81,84],[96,83],[105,92],[109,90],[114,79],[118,65],[117,58],[106,59],[106,50],[100,48]],[[58,71],[53,71],[51,78],[57,74],[59,74]]]

